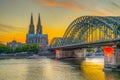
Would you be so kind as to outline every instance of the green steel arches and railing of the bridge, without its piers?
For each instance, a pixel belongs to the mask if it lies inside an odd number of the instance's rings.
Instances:
[[[83,16],[75,19],[51,48],[120,40],[120,16]]]

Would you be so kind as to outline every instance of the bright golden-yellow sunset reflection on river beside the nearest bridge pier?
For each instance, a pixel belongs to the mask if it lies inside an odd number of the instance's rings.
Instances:
[[[81,65],[85,80],[105,80],[101,59],[86,59]]]

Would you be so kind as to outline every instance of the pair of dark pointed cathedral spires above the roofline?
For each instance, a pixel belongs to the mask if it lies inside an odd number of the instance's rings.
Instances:
[[[29,34],[35,34],[34,23],[33,23],[33,14],[31,14],[31,20],[30,20],[30,26],[29,26]],[[38,17],[38,24],[37,24],[36,34],[42,34],[42,26],[41,26],[41,21],[40,21],[40,14],[39,14],[39,17]]]

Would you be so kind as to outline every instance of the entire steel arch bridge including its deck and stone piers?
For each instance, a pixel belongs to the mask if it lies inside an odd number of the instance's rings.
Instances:
[[[50,43],[56,57],[85,58],[86,48],[104,47],[105,68],[120,68],[120,16],[83,16],[75,19],[63,37]],[[107,50],[107,52],[106,52]]]

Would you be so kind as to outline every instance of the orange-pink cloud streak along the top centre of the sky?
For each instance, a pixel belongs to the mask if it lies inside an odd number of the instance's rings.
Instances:
[[[83,6],[82,4],[77,5],[75,0],[44,0],[44,1],[35,0],[35,1],[42,6],[60,7],[73,11],[86,9],[86,7]]]

